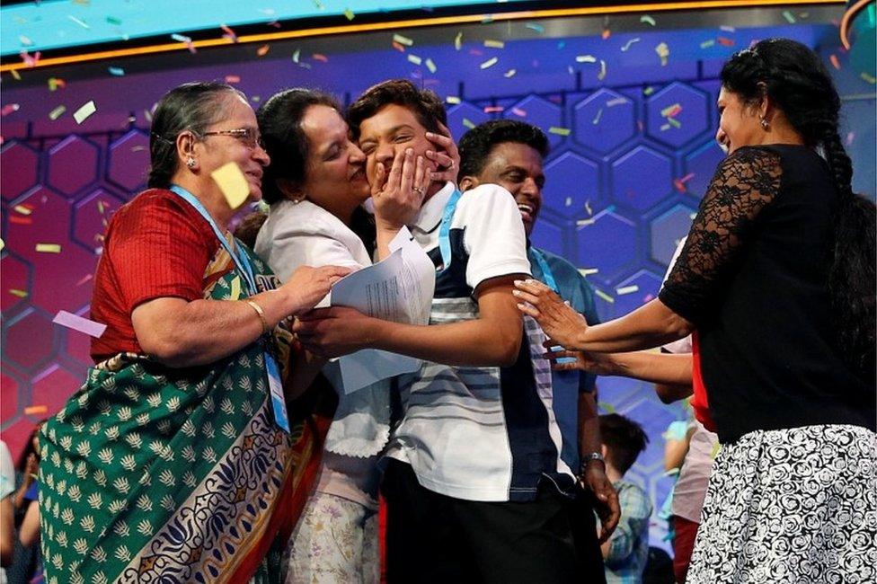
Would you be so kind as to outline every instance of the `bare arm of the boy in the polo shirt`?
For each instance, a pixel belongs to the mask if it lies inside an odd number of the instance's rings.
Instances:
[[[479,316],[470,321],[391,323],[339,306],[302,314],[293,331],[308,350],[323,357],[371,348],[446,365],[508,367],[518,358],[522,336],[522,319],[511,296],[517,278],[485,280],[475,292]]]

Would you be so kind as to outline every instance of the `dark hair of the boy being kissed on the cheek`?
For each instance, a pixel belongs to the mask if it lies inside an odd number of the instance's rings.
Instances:
[[[347,123],[353,140],[359,140],[359,124],[371,118],[385,106],[394,103],[411,110],[423,128],[439,134],[438,122],[447,126],[447,112],[441,98],[429,89],[418,89],[407,79],[390,79],[372,85],[350,104]]]

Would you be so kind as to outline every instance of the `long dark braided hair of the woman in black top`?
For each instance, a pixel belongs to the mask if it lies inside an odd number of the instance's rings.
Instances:
[[[855,195],[853,165],[840,136],[840,97],[828,69],[794,40],[770,39],[740,51],[722,68],[722,85],[749,103],[769,97],[805,144],[821,147],[837,187],[828,292],[837,343],[846,362],[873,376],[875,367],[875,221],[872,201]]]

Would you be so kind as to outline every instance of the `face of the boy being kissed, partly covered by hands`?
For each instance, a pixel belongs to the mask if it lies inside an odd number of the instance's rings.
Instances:
[[[414,150],[415,160],[434,149],[426,139],[426,132],[413,111],[395,103],[385,105],[371,118],[364,119],[359,124],[359,149],[366,155],[368,181],[374,183],[377,163],[384,164],[385,176],[388,175],[394,156],[406,148]],[[435,164],[426,160],[426,171],[435,170]]]

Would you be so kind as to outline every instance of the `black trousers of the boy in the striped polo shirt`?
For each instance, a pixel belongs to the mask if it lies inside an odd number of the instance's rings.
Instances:
[[[391,584],[580,581],[568,503],[550,481],[533,501],[460,500],[424,489],[411,465],[391,460],[381,489]]]

